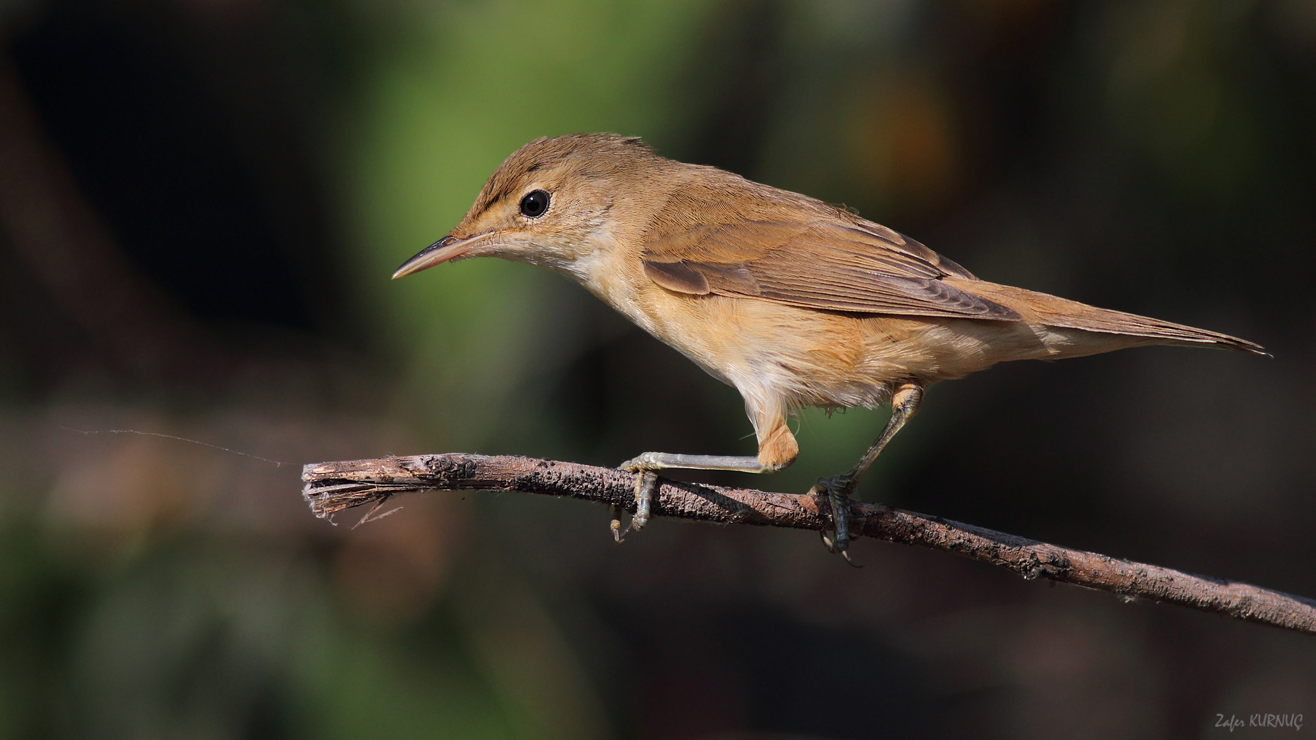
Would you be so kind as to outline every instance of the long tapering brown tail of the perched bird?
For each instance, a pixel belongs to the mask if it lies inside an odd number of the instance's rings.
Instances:
[[[966,282],[962,287],[969,292],[1013,308],[1024,317],[1024,321],[1030,324],[1082,329],[1104,334],[1144,337],[1155,340],[1155,344],[1216,346],[1270,357],[1270,353],[1258,344],[1219,332],[1198,329],[1196,327],[1186,327],[1136,313],[1124,313],[1123,311],[1096,308],[1076,300],[1066,300],[1044,292],[996,283],[976,282],[970,286]]]

